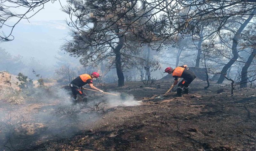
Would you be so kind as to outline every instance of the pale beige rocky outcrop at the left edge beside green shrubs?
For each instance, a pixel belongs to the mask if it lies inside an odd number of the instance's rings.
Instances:
[[[7,71],[0,71],[0,100],[5,100],[14,93],[10,81],[11,75]]]

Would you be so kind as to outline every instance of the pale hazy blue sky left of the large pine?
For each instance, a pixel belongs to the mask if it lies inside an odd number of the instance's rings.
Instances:
[[[61,2],[65,5],[65,1]],[[29,19],[29,22],[25,19],[19,22],[12,33],[14,40],[0,43],[0,47],[11,55],[20,54],[24,61],[35,57],[47,66],[54,65],[57,61],[54,56],[65,42],[64,38],[69,39],[68,27],[64,21],[68,15],[60,8],[58,1],[46,3],[44,9]],[[11,24],[12,20],[7,23]]]

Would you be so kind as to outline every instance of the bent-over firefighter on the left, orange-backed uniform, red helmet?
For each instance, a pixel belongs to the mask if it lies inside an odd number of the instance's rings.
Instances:
[[[71,88],[72,91],[72,100],[74,104],[76,103],[77,100],[77,94],[79,94],[82,97],[83,102],[87,103],[88,96],[85,92],[83,92],[82,87],[86,84],[89,84],[90,88],[97,90],[101,93],[104,93],[102,90],[96,88],[93,86],[93,79],[95,80],[96,78],[99,78],[100,75],[98,72],[93,72],[91,75],[90,74],[82,74],[79,75],[77,78],[75,78],[71,83],[69,84],[69,87]]]

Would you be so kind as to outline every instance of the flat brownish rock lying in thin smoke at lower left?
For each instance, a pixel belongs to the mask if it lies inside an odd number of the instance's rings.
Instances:
[[[13,129],[13,135],[16,137],[29,137],[42,134],[48,129],[46,124],[43,123],[26,123]]]

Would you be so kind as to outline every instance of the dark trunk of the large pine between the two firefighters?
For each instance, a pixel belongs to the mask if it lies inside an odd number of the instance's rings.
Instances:
[[[114,52],[116,54],[115,63],[116,63],[116,69],[117,69],[117,77],[118,77],[118,87],[124,86],[124,73],[122,69],[122,62],[121,62],[121,52],[124,45],[124,39],[123,37],[119,38],[119,44],[115,48]]]

